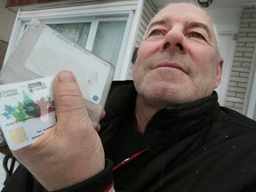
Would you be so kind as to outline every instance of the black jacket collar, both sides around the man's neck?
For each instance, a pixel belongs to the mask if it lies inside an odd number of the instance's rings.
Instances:
[[[134,110],[136,95],[132,81],[113,82],[105,106],[107,116],[103,123]],[[140,149],[154,150],[182,140],[189,134],[202,130],[219,112],[217,92],[195,102],[162,108],[148,122]]]

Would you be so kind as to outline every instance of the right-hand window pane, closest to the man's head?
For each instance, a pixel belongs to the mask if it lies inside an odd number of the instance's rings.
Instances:
[[[92,52],[116,66],[126,21],[100,21]]]

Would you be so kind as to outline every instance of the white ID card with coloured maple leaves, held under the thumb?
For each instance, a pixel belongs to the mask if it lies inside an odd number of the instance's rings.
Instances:
[[[56,124],[53,78],[0,86],[0,124],[11,150],[31,144]]]

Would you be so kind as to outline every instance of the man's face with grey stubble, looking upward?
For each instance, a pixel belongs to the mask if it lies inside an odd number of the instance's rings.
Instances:
[[[221,71],[208,15],[192,4],[172,4],[151,20],[133,79],[138,96],[159,106],[211,95]]]

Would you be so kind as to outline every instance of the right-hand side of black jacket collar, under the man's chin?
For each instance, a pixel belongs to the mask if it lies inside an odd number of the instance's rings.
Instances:
[[[146,127],[141,148],[163,148],[195,132],[206,129],[220,105],[217,92],[210,97],[177,107],[162,108],[151,118]]]

